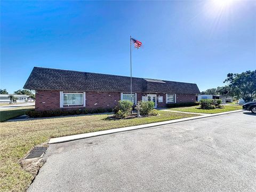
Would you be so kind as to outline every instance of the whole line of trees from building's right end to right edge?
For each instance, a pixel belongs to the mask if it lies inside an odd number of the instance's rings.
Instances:
[[[241,74],[229,73],[223,83],[227,83],[227,85],[207,89],[201,94],[219,94],[236,99],[242,98],[245,102],[253,101],[256,98],[256,70],[245,71]]]

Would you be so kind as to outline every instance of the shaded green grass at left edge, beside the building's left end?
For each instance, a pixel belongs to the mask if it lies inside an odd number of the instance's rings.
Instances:
[[[12,109],[4,109],[0,111],[0,122],[7,121],[13,117],[18,117],[24,115],[26,111],[34,109],[35,106],[26,106],[26,107],[13,107]]]

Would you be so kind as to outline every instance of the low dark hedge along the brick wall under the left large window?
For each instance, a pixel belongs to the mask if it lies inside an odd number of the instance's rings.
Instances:
[[[82,114],[94,114],[94,113],[105,113],[112,112],[111,108],[107,109],[77,109],[77,110],[49,110],[49,111],[26,111],[26,115],[29,117],[57,117],[57,116],[68,116],[68,115],[82,115]]]

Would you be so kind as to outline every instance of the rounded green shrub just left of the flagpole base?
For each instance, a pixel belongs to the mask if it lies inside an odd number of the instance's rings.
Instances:
[[[118,105],[113,109],[116,117],[124,118],[131,115],[133,103],[131,101],[118,101]]]

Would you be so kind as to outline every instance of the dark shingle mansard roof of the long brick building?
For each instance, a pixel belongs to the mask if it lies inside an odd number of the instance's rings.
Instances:
[[[34,67],[24,89],[130,92],[130,77]],[[194,83],[132,77],[133,92],[200,93]]]

